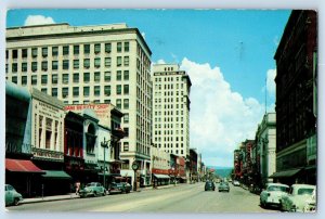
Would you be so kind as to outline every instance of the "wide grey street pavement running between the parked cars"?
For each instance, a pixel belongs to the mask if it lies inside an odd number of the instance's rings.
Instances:
[[[218,186],[218,184],[216,184]],[[278,212],[259,206],[259,196],[231,184],[231,191],[204,191],[204,183],[143,189],[130,194],[22,204],[9,210],[110,212]]]

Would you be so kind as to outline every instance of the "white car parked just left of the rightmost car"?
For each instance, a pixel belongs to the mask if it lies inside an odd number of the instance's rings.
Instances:
[[[260,194],[261,207],[268,207],[269,205],[280,206],[280,199],[283,195],[287,194],[289,185],[282,183],[268,183],[266,189]]]

